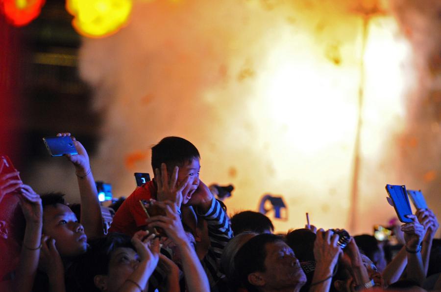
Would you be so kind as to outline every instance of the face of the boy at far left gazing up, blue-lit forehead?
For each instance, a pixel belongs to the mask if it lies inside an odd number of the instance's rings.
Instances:
[[[55,239],[55,247],[61,257],[75,257],[86,252],[84,228],[66,205],[56,204],[44,208],[43,234]]]

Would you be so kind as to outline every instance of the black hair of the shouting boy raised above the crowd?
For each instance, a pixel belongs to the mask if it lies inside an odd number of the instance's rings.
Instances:
[[[185,162],[200,159],[195,145],[181,137],[165,137],[158,144],[151,147],[151,167],[161,169],[161,163],[166,163],[168,170],[175,165],[182,166]]]

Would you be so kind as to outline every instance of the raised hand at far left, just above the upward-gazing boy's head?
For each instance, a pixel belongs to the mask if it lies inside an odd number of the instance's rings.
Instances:
[[[43,224],[43,207],[41,198],[30,186],[22,185],[19,188],[19,204],[27,223]]]

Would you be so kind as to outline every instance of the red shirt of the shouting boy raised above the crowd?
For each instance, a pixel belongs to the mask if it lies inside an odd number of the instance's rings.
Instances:
[[[139,200],[156,199],[157,192],[158,188],[153,181],[149,181],[135,189],[115,213],[109,232],[120,232],[133,236],[138,230],[142,229],[142,226],[147,225],[147,215]]]

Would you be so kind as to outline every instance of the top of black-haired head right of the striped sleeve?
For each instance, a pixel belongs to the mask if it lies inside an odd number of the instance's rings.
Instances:
[[[231,217],[231,229],[234,235],[244,231],[264,233],[267,230],[274,231],[270,218],[262,213],[254,211],[239,212]]]

